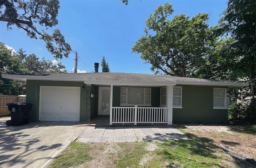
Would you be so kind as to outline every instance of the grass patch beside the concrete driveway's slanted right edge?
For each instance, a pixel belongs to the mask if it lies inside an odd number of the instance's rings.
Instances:
[[[87,162],[92,159],[88,154],[91,148],[86,143],[72,142],[48,168],[68,168]]]

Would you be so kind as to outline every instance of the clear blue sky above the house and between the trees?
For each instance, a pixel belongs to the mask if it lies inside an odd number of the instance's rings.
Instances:
[[[158,5],[169,2],[174,13],[170,16],[198,13],[210,14],[209,25],[216,25],[220,14],[226,9],[226,0],[129,0],[125,6],[119,0],[60,0],[58,13],[59,28],[73,51],[80,57],[78,70],[94,71],[94,63],[101,63],[105,56],[111,72],[132,72],[153,74],[150,64],[144,64],[140,54],[131,53],[132,46],[144,35],[145,21]],[[54,57],[46,50],[42,40],[26,37],[22,29],[7,30],[0,22],[0,41],[13,47],[23,48],[27,54],[37,57]],[[75,54],[58,60],[72,72]],[[102,72],[101,66],[99,72]]]

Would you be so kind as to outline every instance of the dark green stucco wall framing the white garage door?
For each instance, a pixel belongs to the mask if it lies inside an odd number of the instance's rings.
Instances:
[[[80,121],[86,121],[86,90],[84,82],[67,82],[67,81],[48,81],[48,80],[27,80],[26,84],[26,102],[34,104],[30,111],[30,122],[38,121],[39,117],[39,92],[40,86],[66,86],[82,87],[80,92]],[[88,111],[89,112],[89,111]]]

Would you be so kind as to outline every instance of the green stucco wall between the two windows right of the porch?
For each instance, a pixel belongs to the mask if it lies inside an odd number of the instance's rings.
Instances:
[[[173,109],[173,123],[227,123],[228,109],[213,109],[214,86],[182,86],[182,109]]]

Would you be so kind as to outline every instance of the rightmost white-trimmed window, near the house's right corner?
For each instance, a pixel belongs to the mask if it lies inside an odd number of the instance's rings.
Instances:
[[[227,109],[227,89],[213,88],[213,108]]]

